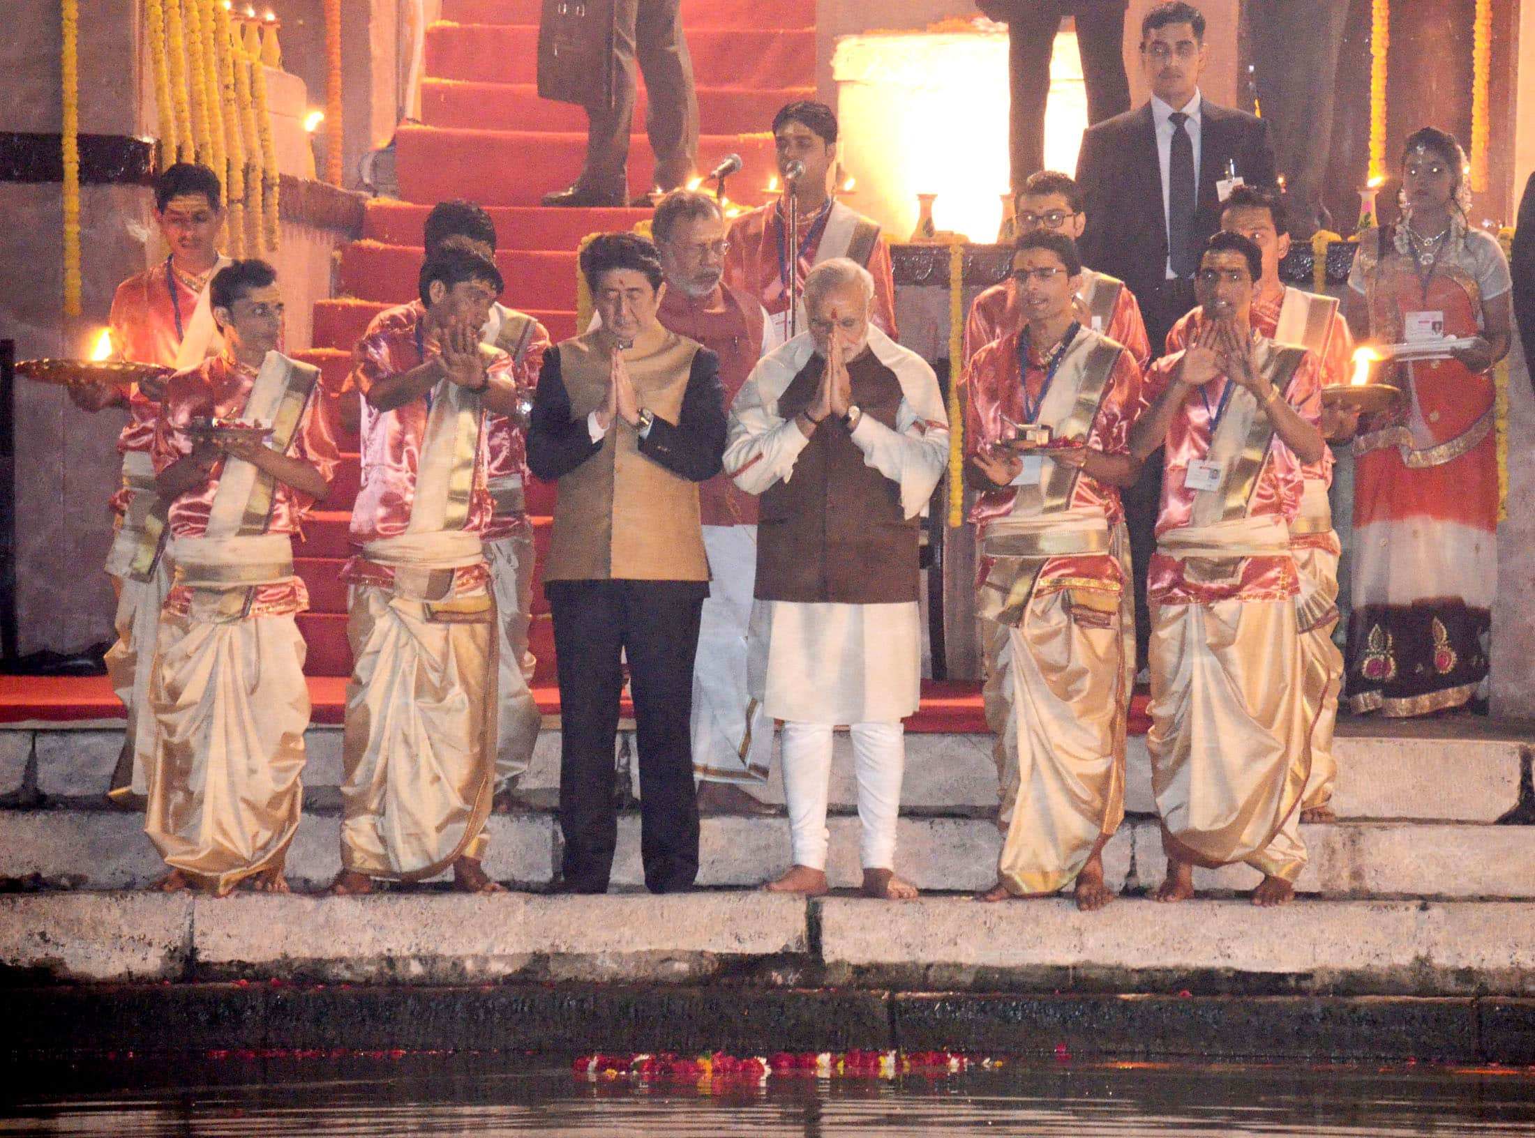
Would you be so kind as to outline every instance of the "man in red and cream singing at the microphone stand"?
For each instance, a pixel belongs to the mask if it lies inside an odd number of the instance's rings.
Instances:
[[[749,210],[731,222],[725,282],[761,301],[778,339],[786,340],[806,330],[806,273],[823,261],[847,258],[873,278],[870,319],[895,339],[890,250],[880,236],[880,225],[837,201],[837,187],[830,187],[837,167],[837,115],[824,103],[789,103],[774,117],[772,133],[784,192],[772,206]],[[792,252],[791,215],[797,245]],[[792,319],[791,287],[801,296]]]

